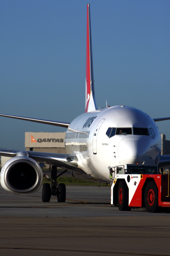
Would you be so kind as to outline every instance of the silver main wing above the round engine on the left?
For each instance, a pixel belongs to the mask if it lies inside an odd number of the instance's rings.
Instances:
[[[20,151],[0,148],[0,155],[4,157],[17,157],[21,156],[22,154],[28,155],[28,157],[34,159],[38,163],[57,165],[61,168],[66,169],[75,169],[77,167],[78,162],[76,155],[36,151]]]

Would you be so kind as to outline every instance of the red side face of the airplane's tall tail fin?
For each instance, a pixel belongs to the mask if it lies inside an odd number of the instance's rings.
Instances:
[[[86,93],[85,93],[85,113],[88,112],[88,104],[91,95],[91,77],[90,77],[90,17],[89,17],[90,5],[87,5],[87,37],[86,37]]]

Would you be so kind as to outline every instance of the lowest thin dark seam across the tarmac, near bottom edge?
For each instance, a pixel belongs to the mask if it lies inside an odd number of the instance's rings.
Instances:
[[[47,250],[47,251],[59,251],[59,252],[76,252],[76,253],[110,253],[119,255],[142,255],[142,256],[170,256],[170,254],[152,254],[152,253],[124,253],[113,251],[94,251],[94,250],[64,250],[64,249],[47,249],[47,248],[24,248],[24,247],[0,247],[0,249],[7,250]]]

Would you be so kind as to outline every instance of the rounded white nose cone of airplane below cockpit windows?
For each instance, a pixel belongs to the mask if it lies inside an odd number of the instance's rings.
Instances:
[[[119,163],[123,164],[153,164],[149,156],[149,143],[141,137],[125,137],[119,142]]]

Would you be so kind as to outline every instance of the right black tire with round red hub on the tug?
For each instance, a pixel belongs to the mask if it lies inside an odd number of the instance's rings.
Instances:
[[[158,188],[153,181],[148,182],[144,190],[144,204],[148,212],[161,212],[161,207],[158,206]]]

